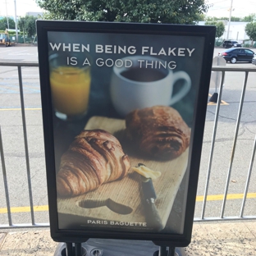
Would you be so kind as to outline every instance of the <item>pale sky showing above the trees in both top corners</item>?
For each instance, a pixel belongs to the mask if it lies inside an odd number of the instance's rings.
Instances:
[[[14,16],[16,1],[16,15],[25,16],[27,11],[42,11],[34,0],[0,0],[0,16]],[[251,13],[256,13],[256,0],[208,0],[213,4],[207,16],[229,17],[232,1],[232,16],[244,17]]]

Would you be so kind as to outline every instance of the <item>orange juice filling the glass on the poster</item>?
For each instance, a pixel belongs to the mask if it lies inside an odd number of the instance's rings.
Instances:
[[[53,104],[57,112],[75,116],[87,111],[89,103],[90,68],[58,66],[51,71]]]

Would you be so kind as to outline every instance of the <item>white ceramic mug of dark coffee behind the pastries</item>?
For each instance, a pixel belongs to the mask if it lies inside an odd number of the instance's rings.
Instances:
[[[113,106],[122,117],[137,108],[170,106],[189,92],[190,76],[185,71],[173,72],[168,66],[159,67],[159,62],[164,64],[157,57],[131,56],[122,58],[113,67],[110,94]],[[173,95],[177,80],[183,80],[183,84]]]

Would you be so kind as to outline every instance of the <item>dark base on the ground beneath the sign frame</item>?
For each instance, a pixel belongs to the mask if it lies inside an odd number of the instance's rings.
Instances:
[[[82,244],[60,243],[54,256],[185,256],[182,248],[154,245],[151,241],[89,239]]]

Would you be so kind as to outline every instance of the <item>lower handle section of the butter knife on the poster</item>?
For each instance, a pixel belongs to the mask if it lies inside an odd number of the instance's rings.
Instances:
[[[162,220],[158,213],[158,208],[155,203],[153,203],[154,199],[148,199],[145,202],[145,210],[146,210],[146,220],[149,227],[152,227],[154,231],[162,231]]]

